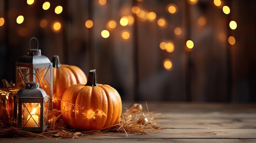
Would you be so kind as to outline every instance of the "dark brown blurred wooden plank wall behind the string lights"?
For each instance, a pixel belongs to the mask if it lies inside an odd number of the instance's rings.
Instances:
[[[175,14],[166,11],[170,3],[178,8]],[[187,0],[107,0],[105,5],[98,0],[54,0],[47,11],[42,4],[0,0],[0,17],[5,18],[0,26],[1,79],[15,81],[15,62],[36,37],[43,55],[59,55],[63,64],[79,66],[85,74],[96,68],[99,83],[115,87],[124,100],[256,101],[254,0],[222,1],[230,7],[229,15],[208,0],[193,6]],[[54,13],[57,5],[63,6],[59,15]],[[134,5],[154,11],[157,18],[138,18],[131,11]],[[22,24],[16,23],[18,15],[25,17]],[[135,22],[121,26],[120,18],[127,15]],[[201,16],[204,26],[197,22]],[[166,26],[158,26],[158,18],[166,19]],[[39,26],[42,19],[48,21],[45,28]],[[91,29],[84,25],[88,19],[94,21]],[[110,19],[117,27],[108,29],[110,37],[105,39],[100,32]],[[55,20],[62,24],[58,33],[51,29]],[[237,29],[229,28],[230,20],[237,22]],[[175,27],[182,29],[181,35],[173,33]],[[128,40],[121,38],[123,30],[130,31]],[[227,42],[231,35],[234,45]],[[159,48],[165,40],[173,41],[174,52]],[[195,44],[190,51],[186,40]],[[162,66],[166,58],[173,62],[171,71]]]

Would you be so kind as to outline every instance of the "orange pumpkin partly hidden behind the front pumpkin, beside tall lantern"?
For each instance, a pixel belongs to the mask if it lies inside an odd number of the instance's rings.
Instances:
[[[52,106],[59,110],[65,90],[74,84],[86,84],[87,77],[78,66],[61,64],[58,55],[53,56],[52,63]]]

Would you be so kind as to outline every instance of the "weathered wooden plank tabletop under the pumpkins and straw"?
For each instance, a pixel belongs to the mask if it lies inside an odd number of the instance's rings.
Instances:
[[[129,107],[133,102],[124,102]],[[144,109],[146,103],[141,102]],[[256,143],[256,103],[147,102],[166,128],[155,134],[106,132],[79,139],[0,139],[0,143]],[[113,134],[117,136],[112,136]]]

